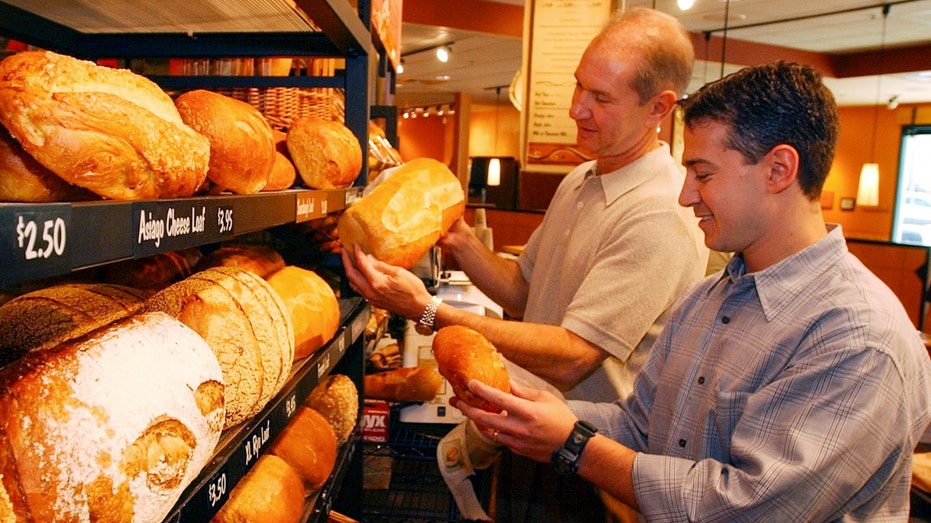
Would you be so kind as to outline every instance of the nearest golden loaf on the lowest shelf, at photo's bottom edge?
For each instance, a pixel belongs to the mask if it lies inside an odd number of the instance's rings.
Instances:
[[[304,512],[304,486],[283,459],[263,454],[230,492],[213,523],[297,523]]]

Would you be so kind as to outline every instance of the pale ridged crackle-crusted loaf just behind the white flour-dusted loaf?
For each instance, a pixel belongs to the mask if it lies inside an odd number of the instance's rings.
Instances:
[[[166,312],[207,341],[226,384],[226,427],[257,414],[288,380],[291,320],[274,289],[249,271],[194,273],[149,298],[143,309]]]

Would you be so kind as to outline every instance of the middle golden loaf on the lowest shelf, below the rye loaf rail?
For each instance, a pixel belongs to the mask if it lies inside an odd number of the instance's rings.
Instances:
[[[268,451],[291,465],[309,496],[320,490],[333,473],[336,434],[322,414],[301,406]]]

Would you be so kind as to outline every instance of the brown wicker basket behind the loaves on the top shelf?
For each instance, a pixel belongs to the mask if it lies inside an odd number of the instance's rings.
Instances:
[[[344,121],[345,98],[341,89],[300,87],[243,87],[217,92],[255,107],[275,129],[286,131],[303,116]]]

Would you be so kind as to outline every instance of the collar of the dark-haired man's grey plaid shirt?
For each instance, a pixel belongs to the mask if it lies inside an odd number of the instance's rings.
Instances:
[[[727,264],[722,278],[730,278],[734,285],[747,282],[756,287],[760,305],[767,321],[772,321],[788,306],[798,289],[832,270],[847,254],[847,241],[840,225],[828,224],[828,234],[776,264],[747,274],[743,256],[734,256]]]

